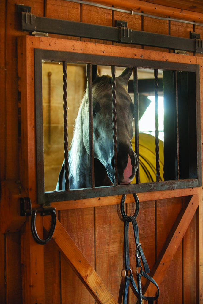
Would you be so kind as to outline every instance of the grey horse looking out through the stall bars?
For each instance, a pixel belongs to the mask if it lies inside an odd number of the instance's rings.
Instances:
[[[127,67],[116,77],[117,169],[120,185],[131,183],[138,168],[138,158],[131,144],[134,119],[134,104],[128,94],[131,74],[132,68]],[[97,66],[92,65],[95,187],[114,184],[111,79],[111,76],[106,74],[100,76]],[[88,83],[75,120],[68,163],[70,189],[89,188]],[[59,173],[56,190],[65,190],[65,161]]]

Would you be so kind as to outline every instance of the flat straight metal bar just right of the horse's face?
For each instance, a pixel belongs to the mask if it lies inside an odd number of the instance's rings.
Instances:
[[[138,127],[138,68],[133,68],[133,88],[134,88],[134,116],[135,116],[135,153],[138,157],[138,170],[136,172],[136,184],[140,182],[140,166],[139,166],[139,127]]]

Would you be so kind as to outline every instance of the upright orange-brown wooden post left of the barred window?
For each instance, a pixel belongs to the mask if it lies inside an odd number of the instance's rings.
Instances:
[[[20,180],[36,204],[36,157],[35,157],[35,112],[34,103],[34,47],[40,47],[39,37],[35,44],[26,37],[18,38],[18,76],[21,95],[21,138],[20,145]],[[32,46],[33,45],[33,46]],[[32,46],[32,47],[31,47]],[[26,170],[25,170],[26,168]]]

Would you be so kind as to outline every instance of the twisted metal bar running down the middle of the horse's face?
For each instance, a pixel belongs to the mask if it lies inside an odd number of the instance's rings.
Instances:
[[[114,186],[118,185],[118,167],[117,167],[117,130],[116,130],[116,77],[115,66],[111,66],[111,84],[112,84],[112,120],[113,120],[113,146],[114,146]]]

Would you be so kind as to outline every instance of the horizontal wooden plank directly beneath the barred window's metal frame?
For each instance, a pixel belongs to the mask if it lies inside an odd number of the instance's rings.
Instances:
[[[180,196],[187,196],[198,194],[198,188],[184,188],[184,189],[173,189],[165,191],[154,191],[154,192],[142,192],[138,193],[138,199],[140,202],[153,201],[155,199],[166,199],[174,198]],[[96,207],[96,206],[110,206],[117,205],[121,202],[122,195],[112,195],[105,197],[97,197],[90,199],[77,199],[64,202],[53,202],[52,207],[55,207],[57,210],[67,210],[67,209],[78,209],[85,207]],[[134,202],[132,194],[126,196],[125,202],[128,204]]]

